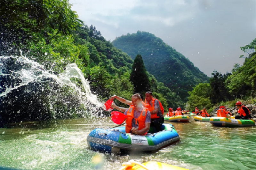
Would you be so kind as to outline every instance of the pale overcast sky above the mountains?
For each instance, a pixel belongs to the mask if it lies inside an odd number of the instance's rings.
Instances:
[[[208,76],[230,72],[256,38],[256,0],[70,0],[86,25],[107,39],[155,34]]]

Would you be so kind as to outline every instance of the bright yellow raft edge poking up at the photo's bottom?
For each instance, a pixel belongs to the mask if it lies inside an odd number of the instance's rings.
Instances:
[[[120,170],[186,170],[185,168],[155,161],[145,162],[141,164],[134,160],[130,160],[129,162],[124,163],[123,166],[124,167]]]

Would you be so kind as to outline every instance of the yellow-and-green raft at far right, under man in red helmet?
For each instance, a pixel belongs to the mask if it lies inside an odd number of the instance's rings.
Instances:
[[[255,126],[254,120],[230,119],[226,117],[211,117],[210,123],[220,127],[246,127]]]

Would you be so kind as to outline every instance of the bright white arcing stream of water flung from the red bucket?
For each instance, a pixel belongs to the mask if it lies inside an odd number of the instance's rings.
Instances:
[[[10,66],[10,63],[14,67]],[[9,64],[9,65],[8,65]],[[11,69],[10,69],[11,68]],[[83,72],[77,67],[75,63],[68,64],[61,74],[54,74],[52,69],[45,70],[44,65],[41,65],[33,60],[33,58],[21,56],[0,56],[0,76],[9,77],[12,80],[18,80],[18,83],[14,85],[8,85],[3,83],[3,87],[0,86],[0,97],[4,98],[14,90],[19,89],[22,86],[37,82],[41,83],[42,79],[50,79],[55,85],[51,87],[51,93],[48,95],[49,104],[53,109],[56,100],[61,100],[60,97],[56,97],[58,92],[55,91],[56,84],[60,87],[69,87],[74,92],[72,95],[79,100],[79,106],[84,106],[84,113],[86,115],[88,110],[98,112],[99,108],[102,107],[103,103],[97,98],[97,95],[92,94],[90,90],[89,82],[84,78]],[[79,86],[74,83],[71,79],[79,79]],[[0,80],[1,82],[2,80]],[[81,85],[80,85],[81,84]],[[44,88],[43,88],[44,90]],[[31,91],[33,92],[33,91]],[[17,96],[16,98],[18,98]],[[31,100],[31,102],[33,102]],[[68,101],[67,101],[68,102]],[[84,114],[83,113],[83,114]]]

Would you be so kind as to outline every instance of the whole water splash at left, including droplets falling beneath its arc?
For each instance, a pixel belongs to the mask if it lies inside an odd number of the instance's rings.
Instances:
[[[29,95],[29,97],[24,97],[22,94]],[[45,70],[44,65],[32,58],[23,55],[0,56],[0,99],[1,105],[5,104],[7,108],[7,111],[3,112],[12,113],[13,119],[17,117],[15,114],[20,114],[22,109],[26,112],[24,110],[36,105],[34,104],[36,102],[39,102],[39,105],[48,105],[53,118],[56,118],[57,112],[67,112],[59,113],[64,117],[65,114],[72,115],[75,112],[85,116],[89,115],[88,111],[90,115],[91,113],[102,115],[100,107],[103,103],[97,95],[92,94],[88,81],[75,63],[68,64],[63,73],[56,75],[53,70]],[[23,101],[29,104],[18,106]],[[2,107],[4,106],[1,106],[1,112],[4,110]],[[22,109],[19,110],[17,107],[22,107]],[[58,107],[62,110],[57,111]]]

